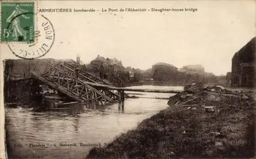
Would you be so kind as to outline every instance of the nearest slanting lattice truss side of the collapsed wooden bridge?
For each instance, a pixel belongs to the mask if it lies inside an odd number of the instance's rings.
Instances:
[[[115,102],[113,95],[105,90],[97,90],[91,85],[84,83],[80,79],[68,74],[67,72],[59,69],[58,67],[41,60],[44,64],[48,65],[50,69],[42,74],[37,74],[30,71],[32,76],[61,93],[66,94],[70,98],[79,102]]]

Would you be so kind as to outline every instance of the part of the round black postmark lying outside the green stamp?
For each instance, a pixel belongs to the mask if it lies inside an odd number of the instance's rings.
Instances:
[[[25,13],[24,13],[25,14]],[[33,13],[26,13],[33,14]],[[22,15],[19,15],[22,16]],[[18,16],[17,16],[18,17]],[[24,59],[35,59],[46,55],[53,46],[55,31],[52,22],[44,15],[37,14],[37,30],[34,32],[34,42],[7,42],[11,52]]]

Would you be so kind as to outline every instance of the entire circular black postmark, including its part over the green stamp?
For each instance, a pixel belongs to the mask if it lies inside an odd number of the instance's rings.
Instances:
[[[44,15],[37,14],[37,28],[34,26],[26,26],[25,28],[18,28],[19,18],[34,17],[32,12],[26,12],[14,16],[8,26],[7,34],[12,34],[16,41],[8,41],[7,46],[11,52],[23,59],[35,59],[46,55],[53,46],[55,39],[55,31],[52,22]],[[9,37],[9,36],[7,36]]]

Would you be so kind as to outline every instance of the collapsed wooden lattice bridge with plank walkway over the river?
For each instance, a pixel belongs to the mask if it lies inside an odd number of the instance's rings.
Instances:
[[[41,82],[49,85],[62,94],[78,102],[112,103],[119,100],[120,90],[133,92],[179,93],[181,90],[135,89],[114,87],[96,75],[87,71],[77,71],[75,65],[65,62],[52,65],[40,60],[46,65],[42,73],[30,71],[31,75]]]

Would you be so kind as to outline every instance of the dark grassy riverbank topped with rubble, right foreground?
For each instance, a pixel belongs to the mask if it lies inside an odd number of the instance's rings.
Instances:
[[[171,97],[169,108],[86,158],[253,157],[252,96],[207,89]]]

